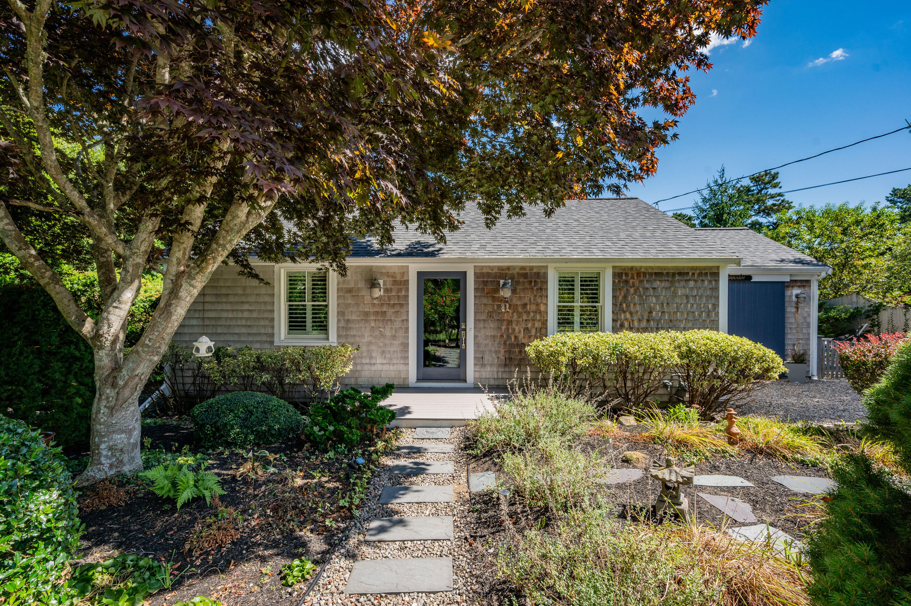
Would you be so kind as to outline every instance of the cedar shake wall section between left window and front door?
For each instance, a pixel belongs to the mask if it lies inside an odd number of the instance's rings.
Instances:
[[[370,298],[374,278],[383,296]],[[343,385],[408,386],[408,266],[349,265],[338,278],[338,343],[360,345]]]

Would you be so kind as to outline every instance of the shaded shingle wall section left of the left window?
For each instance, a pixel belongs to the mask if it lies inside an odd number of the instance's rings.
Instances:
[[[271,285],[275,270],[271,265],[257,265],[256,270],[270,284],[241,278],[237,267],[220,265],[212,272],[196,301],[190,303],[172,340],[192,347],[200,338],[203,333],[202,301],[205,299],[205,334],[216,346],[271,348],[275,342],[275,293]]]

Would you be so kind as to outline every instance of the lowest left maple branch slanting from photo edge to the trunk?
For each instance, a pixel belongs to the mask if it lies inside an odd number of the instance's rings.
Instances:
[[[44,262],[35,247],[26,241],[3,202],[0,202],[0,240],[3,240],[6,248],[15,254],[15,258],[23,267],[50,293],[69,325],[91,344],[95,337],[95,321],[82,311],[60,276]]]

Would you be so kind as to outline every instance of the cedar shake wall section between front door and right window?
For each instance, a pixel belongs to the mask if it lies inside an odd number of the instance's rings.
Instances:
[[[501,309],[500,280],[512,280],[509,310]],[[546,265],[475,266],[475,383],[503,386],[531,364],[527,344],[548,335]],[[532,368],[534,371],[534,368]]]

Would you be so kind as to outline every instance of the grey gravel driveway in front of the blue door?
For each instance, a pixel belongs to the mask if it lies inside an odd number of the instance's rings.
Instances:
[[[860,395],[844,379],[807,381],[803,385],[770,381],[737,412],[814,423],[854,423],[866,415]]]

